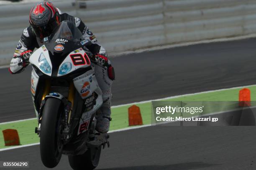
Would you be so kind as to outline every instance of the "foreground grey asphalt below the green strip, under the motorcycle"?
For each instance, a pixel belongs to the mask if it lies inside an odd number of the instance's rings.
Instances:
[[[255,170],[256,128],[159,126],[110,133],[97,170]],[[0,152],[46,170],[39,145]],[[53,170],[72,170],[67,156]]]

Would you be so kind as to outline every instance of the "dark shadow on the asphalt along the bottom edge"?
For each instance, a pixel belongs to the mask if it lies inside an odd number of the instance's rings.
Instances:
[[[192,163],[178,163],[172,165],[145,165],[145,166],[133,166],[133,167],[120,167],[120,168],[108,168],[99,170],[196,170],[198,168],[209,168],[220,164],[192,162]]]

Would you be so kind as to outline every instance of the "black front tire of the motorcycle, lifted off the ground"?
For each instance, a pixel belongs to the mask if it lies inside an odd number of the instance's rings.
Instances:
[[[40,132],[40,153],[41,160],[47,168],[54,168],[58,165],[63,144],[60,140],[60,113],[62,103],[59,99],[48,98],[44,105]]]

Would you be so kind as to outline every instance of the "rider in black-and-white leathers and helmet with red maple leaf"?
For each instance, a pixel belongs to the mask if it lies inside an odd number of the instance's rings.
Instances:
[[[11,74],[20,73],[28,66],[29,57],[33,53],[33,50],[41,47],[44,44],[44,37],[48,37],[61,21],[68,20],[82,32],[84,39],[90,40],[92,44],[99,47],[95,35],[87,28],[80,18],[72,17],[67,13],[60,14],[51,2],[45,1],[38,3],[32,7],[29,14],[30,26],[23,30],[18,45],[15,49],[13,59],[10,62],[9,71]],[[93,46],[92,46],[93,47]],[[93,48],[89,48],[93,51]],[[100,133],[106,133],[109,130],[110,125],[110,105],[111,105],[111,85],[115,79],[115,73],[113,67],[110,65],[106,50],[100,46],[100,51],[96,51],[95,60],[100,65],[108,65],[105,70],[99,65],[92,64],[95,70],[95,76],[97,82],[102,90],[103,104],[100,110],[97,112],[97,125],[96,130]],[[107,63],[107,64],[106,64]]]

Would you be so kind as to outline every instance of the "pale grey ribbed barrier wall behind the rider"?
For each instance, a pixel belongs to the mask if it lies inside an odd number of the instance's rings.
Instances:
[[[256,0],[56,0],[108,53],[256,33]],[[33,4],[0,6],[0,65],[7,64]]]

